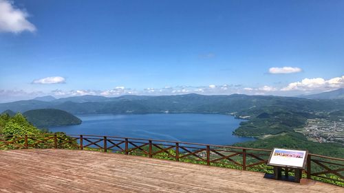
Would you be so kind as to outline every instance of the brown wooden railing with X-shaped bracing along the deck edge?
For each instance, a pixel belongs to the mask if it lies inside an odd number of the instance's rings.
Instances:
[[[0,150],[20,148],[98,150],[239,170],[272,172],[272,168],[266,166],[271,150],[266,149],[98,135],[0,135]],[[344,159],[309,154],[304,177],[344,186],[343,172]]]

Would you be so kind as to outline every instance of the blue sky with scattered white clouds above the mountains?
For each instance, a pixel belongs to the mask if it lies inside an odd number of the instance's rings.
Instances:
[[[344,1],[0,0],[0,102],[344,88]]]

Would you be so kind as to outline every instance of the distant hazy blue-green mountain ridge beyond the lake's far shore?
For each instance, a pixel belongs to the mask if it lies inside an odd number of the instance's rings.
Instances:
[[[319,101],[305,98],[290,98],[264,95],[124,95],[117,98],[84,95],[61,98],[51,102],[22,100],[0,104],[5,110],[25,112],[33,109],[60,109],[72,114],[90,113],[235,113],[239,115],[264,113],[264,110],[288,111],[333,111],[344,109],[343,100]]]

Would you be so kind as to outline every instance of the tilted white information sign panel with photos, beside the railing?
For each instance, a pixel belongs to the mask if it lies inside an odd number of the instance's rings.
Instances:
[[[308,151],[274,148],[271,152],[268,165],[304,169],[307,155]]]

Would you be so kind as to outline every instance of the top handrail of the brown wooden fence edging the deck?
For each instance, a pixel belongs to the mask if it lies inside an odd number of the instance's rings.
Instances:
[[[60,134],[60,133],[47,133],[47,134],[27,134],[28,136],[36,135],[36,136],[46,136],[46,135],[67,135],[67,136],[80,136],[80,134]],[[24,137],[24,135],[0,135],[0,137],[6,136],[6,137]],[[119,137],[119,136],[113,136],[113,135],[83,135],[84,137],[107,137],[107,138],[118,138],[118,139],[134,139],[134,140],[142,140],[142,141],[158,141],[158,142],[165,142],[165,143],[178,143],[178,144],[188,144],[188,145],[195,145],[195,146],[212,146],[212,147],[218,147],[218,148],[232,148],[232,149],[239,149],[239,150],[257,150],[257,151],[265,151],[265,152],[271,152],[272,150],[267,149],[261,149],[261,148],[245,148],[245,147],[238,147],[238,146],[225,146],[225,145],[215,145],[215,144],[199,144],[199,143],[193,143],[193,142],[185,142],[185,141],[169,141],[169,140],[162,140],[162,139],[144,139],[144,138],[136,138],[136,137]],[[328,157],[325,155],[317,155],[314,153],[309,153],[308,155],[314,156],[314,157],[320,157],[325,159],[332,159],[336,161],[344,161],[342,158],[338,157]]]

